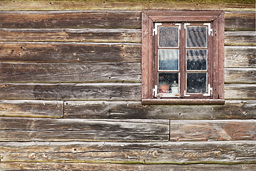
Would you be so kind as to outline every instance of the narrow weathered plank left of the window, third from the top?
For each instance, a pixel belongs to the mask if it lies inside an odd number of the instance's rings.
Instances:
[[[140,43],[140,32],[128,28],[0,28],[0,41]]]

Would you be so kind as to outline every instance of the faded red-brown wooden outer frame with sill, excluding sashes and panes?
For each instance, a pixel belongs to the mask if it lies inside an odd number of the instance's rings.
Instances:
[[[205,22],[213,27],[210,74],[213,95],[208,98],[155,98],[153,28],[160,22]],[[142,103],[143,105],[211,105],[225,104],[224,99],[224,12],[223,11],[143,11],[142,12]],[[183,61],[184,62],[184,61]]]

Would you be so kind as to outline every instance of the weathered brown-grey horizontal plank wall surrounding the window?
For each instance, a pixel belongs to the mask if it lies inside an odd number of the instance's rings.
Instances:
[[[0,9],[0,170],[256,170],[255,1]],[[141,105],[148,9],[225,11],[225,105]]]

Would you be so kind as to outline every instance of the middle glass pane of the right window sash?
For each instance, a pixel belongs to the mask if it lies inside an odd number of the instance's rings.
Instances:
[[[187,70],[206,70],[207,50],[187,50]]]

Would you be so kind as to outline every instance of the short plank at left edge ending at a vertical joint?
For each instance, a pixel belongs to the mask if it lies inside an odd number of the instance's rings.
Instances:
[[[0,100],[0,116],[63,118],[63,101]]]

